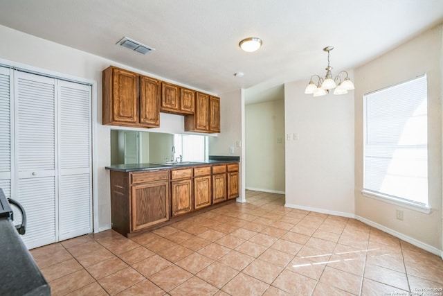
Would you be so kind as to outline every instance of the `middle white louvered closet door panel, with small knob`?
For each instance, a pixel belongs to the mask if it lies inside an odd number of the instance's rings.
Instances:
[[[22,236],[28,248],[56,241],[55,82],[15,71],[15,192],[28,218]]]

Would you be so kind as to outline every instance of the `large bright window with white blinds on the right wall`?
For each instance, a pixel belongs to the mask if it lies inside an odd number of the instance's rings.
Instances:
[[[363,100],[363,194],[428,209],[426,75]]]

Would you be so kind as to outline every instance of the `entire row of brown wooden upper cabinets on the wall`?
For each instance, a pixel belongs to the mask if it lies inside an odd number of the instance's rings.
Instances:
[[[220,132],[220,98],[109,66],[103,70],[105,125],[159,128],[160,112],[185,116],[185,131]]]

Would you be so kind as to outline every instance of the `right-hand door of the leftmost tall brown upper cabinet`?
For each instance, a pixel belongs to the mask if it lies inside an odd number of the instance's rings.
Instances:
[[[140,123],[148,128],[160,126],[160,82],[140,77]]]

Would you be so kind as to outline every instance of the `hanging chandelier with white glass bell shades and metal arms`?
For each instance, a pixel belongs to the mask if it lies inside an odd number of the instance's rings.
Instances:
[[[326,46],[323,49],[323,51],[327,51],[327,67],[325,68],[325,78],[322,78],[318,75],[311,76],[309,84],[305,89],[305,94],[314,94],[314,96],[325,96],[325,94],[329,93],[329,89],[334,88],[334,94],[347,94],[348,90],[354,89],[354,83],[352,83],[352,81],[349,79],[347,71],[339,72],[337,76],[332,79],[332,67],[329,64],[329,51],[332,51],[332,49],[334,49],[334,46]],[[346,77],[344,79],[341,78],[341,73],[346,74]],[[312,81],[313,78],[318,79],[317,84],[314,84],[314,81]]]

